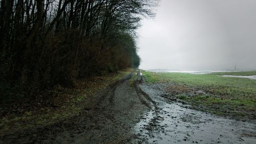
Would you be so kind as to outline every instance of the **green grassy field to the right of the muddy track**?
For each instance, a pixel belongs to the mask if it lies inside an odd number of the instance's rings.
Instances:
[[[169,97],[178,98],[194,108],[238,119],[256,119],[256,80],[220,77],[255,75],[255,71],[193,75],[144,71],[147,83],[168,83]]]

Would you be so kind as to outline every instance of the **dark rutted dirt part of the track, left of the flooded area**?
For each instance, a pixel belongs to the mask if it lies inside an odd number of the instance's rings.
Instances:
[[[134,73],[135,71],[133,71]],[[137,71],[140,74],[140,71]],[[138,143],[146,141],[134,128],[144,121],[140,130],[155,135],[161,122],[161,110],[157,101],[145,93],[140,83],[142,76],[130,85],[131,77],[112,83],[93,97],[83,100],[82,112],[76,116],[40,129],[14,133],[4,137],[6,143]],[[141,134],[143,134],[141,132]],[[1,143],[1,139],[0,139]]]

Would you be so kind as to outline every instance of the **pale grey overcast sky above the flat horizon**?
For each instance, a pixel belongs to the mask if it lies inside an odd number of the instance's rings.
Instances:
[[[256,0],[162,0],[141,24],[142,69],[256,69]]]

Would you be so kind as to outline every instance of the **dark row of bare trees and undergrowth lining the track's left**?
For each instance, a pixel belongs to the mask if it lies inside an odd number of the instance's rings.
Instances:
[[[138,67],[135,30],[156,0],[0,1],[1,97]]]

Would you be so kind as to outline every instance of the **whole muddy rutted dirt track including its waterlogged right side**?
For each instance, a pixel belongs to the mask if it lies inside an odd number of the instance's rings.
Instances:
[[[162,98],[137,75],[84,100],[79,115],[46,128],[1,136],[0,143],[255,143],[256,123],[213,116]]]

